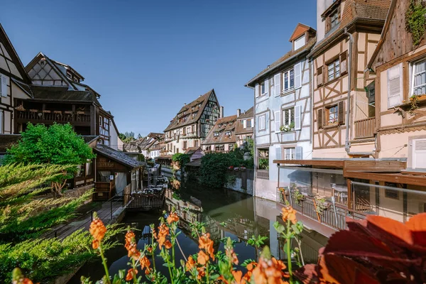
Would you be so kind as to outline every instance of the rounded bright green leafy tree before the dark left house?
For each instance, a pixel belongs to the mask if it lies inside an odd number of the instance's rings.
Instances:
[[[68,178],[77,172],[77,165],[91,163],[96,155],[81,136],[77,136],[70,124],[28,124],[18,143],[7,150],[4,164],[36,163],[65,165],[62,175],[51,180],[51,190],[62,196],[62,188]]]

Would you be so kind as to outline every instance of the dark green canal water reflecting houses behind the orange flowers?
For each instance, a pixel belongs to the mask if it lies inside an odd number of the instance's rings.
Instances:
[[[285,260],[283,252],[283,240],[278,237],[273,223],[281,222],[280,205],[268,200],[245,195],[226,189],[208,189],[194,183],[182,183],[174,181],[173,190],[166,192],[165,210],[172,207],[177,209],[180,215],[179,229],[182,234],[178,241],[182,246],[185,256],[197,253],[198,241],[190,234],[190,223],[197,220],[206,224],[206,229],[214,240],[214,250],[223,251],[221,239],[231,237],[235,244],[235,252],[240,262],[245,259],[256,259],[258,252],[252,246],[246,244],[251,236],[267,236],[265,244],[270,247],[271,253],[276,258]],[[162,212],[126,212],[122,221],[123,226],[131,226],[137,231],[138,249],[143,249],[145,244],[151,244],[151,238],[143,236],[143,229],[150,224],[158,224],[158,218]],[[122,246],[117,246],[107,252],[109,273],[117,273],[121,269],[129,269],[127,251],[124,248],[124,236],[118,236]],[[305,229],[302,232],[302,253],[305,263],[316,263],[318,250],[327,244],[327,238],[316,231]],[[183,259],[177,249],[177,263]],[[151,260],[151,259],[150,259]],[[155,259],[157,268],[163,269],[168,275],[167,268],[161,266],[160,257]],[[104,269],[100,261],[86,263],[84,267],[70,280],[69,283],[80,283],[80,276],[99,280],[104,275]]]

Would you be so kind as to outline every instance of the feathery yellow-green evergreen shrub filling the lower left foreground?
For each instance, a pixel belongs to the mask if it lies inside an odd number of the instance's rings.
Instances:
[[[0,283],[10,283],[11,271],[17,266],[35,283],[50,283],[96,256],[87,230],[62,240],[48,239],[48,231],[75,217],[76,209],[92,195],[89,191],[81,197],[46,197],[50,181],[64,170],[67,165],[0,167]],[[119,231],[110,228],[108,239]]]

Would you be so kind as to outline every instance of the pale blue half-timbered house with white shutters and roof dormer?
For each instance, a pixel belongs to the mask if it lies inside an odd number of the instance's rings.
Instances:
[[[256,196],[275,200],[278,170],[273,166],[273,159],[312,157],[307,54],[316,42],[315,36],[313,28],[297,24],[290,37],[292,50],[246,84],[254,89],[255,97]]]

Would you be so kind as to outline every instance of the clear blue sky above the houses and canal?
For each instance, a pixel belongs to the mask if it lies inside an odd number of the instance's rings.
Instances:
[[[290,50],[315,0],[15,0],[0,22],[24,65],[39,51],[102,95],[120,132],[162,132],[184,103],[214,88],[225,116],[253,106],[244,87]]]

